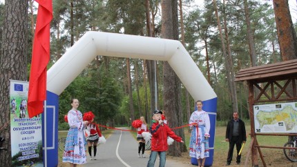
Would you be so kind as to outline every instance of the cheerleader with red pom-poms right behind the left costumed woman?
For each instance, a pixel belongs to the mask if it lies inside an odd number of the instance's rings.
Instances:
[[[97,153],[97,143],[99,140],[99,137],[102,137],[101,131],[99,129],[98,124],[94,122],[94,117],[95,115],[93,112],[89,111],[84,113],[85,115],[89,115],[90,117],[90,122],[88,126],[86,126],[87,130],[90,132],[90,136],[88,136],[88,153],[90,155],[90,160],[96,160],[96,153]],[[92,145],[93,145],[93,150],[94,150],[94,156],[92,156]]]

